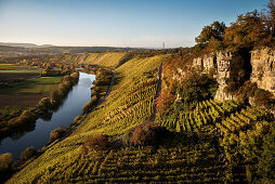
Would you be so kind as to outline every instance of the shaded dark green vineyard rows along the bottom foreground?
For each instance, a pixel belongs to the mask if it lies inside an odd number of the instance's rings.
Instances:
[[[30,180],[39,183],[222,182],[230,176],[226,175],[228,168],[219,162],[208,143],[167,145],[155,154],[150,147],[92,152],[84,156],[79,148],[74,154],[56,154],[62,160],[52,161],[41,176],[28,175]]]

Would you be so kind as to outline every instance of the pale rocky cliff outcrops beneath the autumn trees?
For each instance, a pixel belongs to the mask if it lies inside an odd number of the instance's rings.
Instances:
[[[219,83],[215,100],[233,98],[231,94],[224,92],[224,88],[230,81],[236,80],[241,71],[247,73],[246,80],[250,79],[259,88],[272,92],[275,96],[275,50],[262,49],[250,53],[251,58],[247,62],[245,61],[246,56],[239,52],[218,52],[217,55],[205,55],[204,57],[194,58],[193,68],[200,73],[208,73],[211,68],[214,69],[214,77]]]

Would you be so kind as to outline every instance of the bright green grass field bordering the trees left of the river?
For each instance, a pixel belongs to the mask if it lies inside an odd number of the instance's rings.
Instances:
[[[44,94],[50,93],[60,83],[61,77],[40,77],[16,83],[12,88],[1,89],[0,94]]]

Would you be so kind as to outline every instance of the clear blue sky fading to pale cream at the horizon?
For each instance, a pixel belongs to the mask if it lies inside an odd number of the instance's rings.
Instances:
[[[195,44],[269,0],[0,0],[0,42],[167,48]]]

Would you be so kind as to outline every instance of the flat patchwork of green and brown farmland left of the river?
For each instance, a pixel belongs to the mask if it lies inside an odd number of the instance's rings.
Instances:
[[[24,81],[2,88],[0,106],[25,107],[35,106],[41,97],[48,96],[57,87],[61,77],[39,77],[38,67],[0,64],[0,81],[22,78]]]

